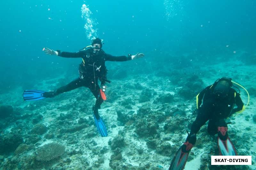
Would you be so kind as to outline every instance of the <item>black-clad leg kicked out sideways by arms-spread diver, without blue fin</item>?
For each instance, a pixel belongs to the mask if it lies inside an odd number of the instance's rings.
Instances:
[[[77,79],[73,80],[72,82],[68,83],[67,85],[58,88],[54,92],[44,93],[44,97],[54,97],[54,96],[59,95],[60,93],[68,92],[68,91],[74,90],[78,87],[82,87],[82,86],[84,86],[83,81],[84,80],[77,78]]]

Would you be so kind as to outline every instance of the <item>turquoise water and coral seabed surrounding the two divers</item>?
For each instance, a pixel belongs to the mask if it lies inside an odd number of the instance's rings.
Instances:
[[[221,77],[250,93],[246,110],[227,122],[238,155],[252,155],[252,165],[212,166],[217,135],[206,123],[185,169],[256,169],[256,1],[10,0],[0,9],[0,169],[168,169],[196,118],[196,95]],[[104,138],[88,88],[22,98],[25,89],[56,90],[79,76],[81,58],[43,48],[76,52],[93,37],[114,56],[145,54],[106,62]],[[46,158],[45,147],[56,151]]]

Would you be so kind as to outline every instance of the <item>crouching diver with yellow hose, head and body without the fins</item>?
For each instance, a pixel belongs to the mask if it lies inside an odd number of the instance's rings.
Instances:
[[[219,137],[224,140],[228,137],[228,132],[221,135],[220,127],[227,128],[227,123],[224,119],[236,112],[244,110],[244,103],[240,98],[240,94],[232,88],[231,78],[220,78],[213,85],[207,86],[202,92],[196,96],[197,116],[193,122],[190,134],[187,137],[195,138],[196,133],[209,120],[207,131],[211,135],[218,133]],[[203,102],[202,102],[203,100]],[[237,106],[236,108],[235,105]]]

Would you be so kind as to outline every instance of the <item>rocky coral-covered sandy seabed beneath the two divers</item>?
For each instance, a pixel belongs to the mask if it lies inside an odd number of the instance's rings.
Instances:
[[[159,68],[161,62],[147,63],[156,69],[147,74],[136,73],[136,69],[131,70],[134,74],[122,69],[110,74],[115,79],[107,84],[107,100],[99,109],[108,137],[100,137],[95,127],[95,98],[89,90],[76,89],[35,102],[17,99],[17,103],[7,103],[0,98],[0,169],[168,169],[196,119],[196,95],[217,78],[229,75],[244,81],[251,101],[243,114],[227,119],[232,122],[228,134],[239,155],[252,155],[254,168],[256,90],[245,80],[256,77],[253,71],[243,70],[250,63],[235,61],[221,70],[219,65],[198,68],[188,60],[191,56],[181,57],[174,56],[177,61],[163,68]],[[57,79],[43,81],[36,88],[54,89],[68,83],[67,78]],[[245,103],[246,93],[241,89],[240,94]],[[186,168],[250,168],[211,166],[211,155],[218,155],[216,140],[216,135],[207,133],[207,123],[202,126]]]

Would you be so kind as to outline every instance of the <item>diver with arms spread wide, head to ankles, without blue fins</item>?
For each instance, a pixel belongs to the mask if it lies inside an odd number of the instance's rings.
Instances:
[[[94,115],[99,119],[98,109],[103,102],[100,87],[98,85],[98,79],[101,81],[103,86],[107,80],[107,69],[105,66],[106,61],[128,61],[136,58],[141,58],[144,56],[143,53],[137,53],[136,55],[128,56],[112,56],[106,54],[102,50],[102,42],[99,38],[92,41],[91,48],[87,50],[81,50],[76,53],[70,52],[60,52],[60,50],[54,51],[52,49],[46,48],[44,50],[45,54],[58,55],[67,58],[82,58],[82,63],[79,65],[79,78],[73,80],[68,85],[58,88],[54,92],[45,92],[44,97],[54,97],[60,93],[68,92],[78,87],[88,87],[96,98],[95,106],[93,107]]]

